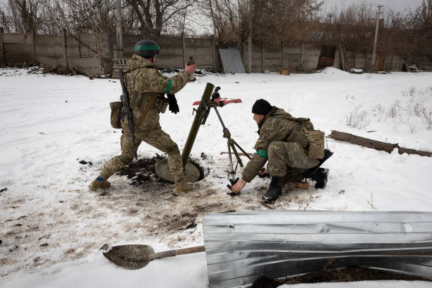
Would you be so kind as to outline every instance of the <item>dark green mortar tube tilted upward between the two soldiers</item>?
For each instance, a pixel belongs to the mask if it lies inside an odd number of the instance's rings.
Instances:
[[[213,89],[215,89],[215,85],[213,85],[212,83],[207,83],[207,85],[205,85],[203,97],[201,97],[201,101],[200,104],[198,105],[198,109],[196,109],[195,119],[193,119],[191,131],[189,131],[188,139],[186,140],[183,153],[181,154],[183,169],[184,167],[186,167],[188,157],[191,154],[193,143],[195,142],[196,135],[198,134],[198,129],[200,128],[201,125],[200,121],[202,120],[202,116],[205,113],[205,109],[206,109],[205,104],[207,104],[210,101],[210,97],[212,96]]]

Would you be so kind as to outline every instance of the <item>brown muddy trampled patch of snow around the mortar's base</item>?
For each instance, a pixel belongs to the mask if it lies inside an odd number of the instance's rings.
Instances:
[[[155,174],[155,164],[162,159],[156,155],[132,162],[109,179],[112,186],[105,191],[77,189],[71,181],[37,186],[37,197],[16,197],[11,188],[2,192],[0,210],[6,217],[0,220],[5,227],[0,232],[0,277],[84,258],[105,243],[159,241],[169,248],[202,243],[205,214],[306,209],[312,196],[319,195],[316,189],[285,186],[276,203],[262,205],[270,179],[257,179],[238,196],[229,196],[228,161],[203,153],[194,161],[204,167],[205,178],[193,184],[193,191],[174,196],[174,185]],[[83,179],[77,180],[88,185],[88,174],[95,174],[97,165],[83,161]]]

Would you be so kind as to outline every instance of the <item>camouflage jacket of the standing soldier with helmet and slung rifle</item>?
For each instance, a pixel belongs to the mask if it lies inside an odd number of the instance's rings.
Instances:
[[[153,95],[162,93],[175,94],[189,82],[189,74],[185,71],[168,78],[157,71],[157,66],[137,54],[133,54],[128,60],[130,72],[124,76],[126,89],[134,122],[138,121],[145,107],[147,107]],[[140,124],[148,130],[159,126],[159,112],[157,111],[159,98],[152,103],[144,121]]]

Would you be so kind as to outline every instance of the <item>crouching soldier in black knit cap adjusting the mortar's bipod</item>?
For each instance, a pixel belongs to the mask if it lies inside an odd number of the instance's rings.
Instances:
[[[295,118],[262,99],[253,104],[252,113],[260,136],[255,145],[256,153],[244,168],[241,179],[232,183],[232,193],[239,193],[257,174],[265,176],[269,173],[272,180],[263,196],[266,203],[274,202],[282,194],[284,180],[295,182],[311,178],[316,181],[316,188],[324,188],[328,169],[319,166],[331,154],[318,159],[309,157],[308,148],[313,139],[310,140],[305,134],[313,131],[311,122],[308,119]],[[320,135],[320,131],[316,132]],[[318,155],[320,154],[324,155],[323,141],[318,147]],[[268,168],[262,169],[267,161]]]

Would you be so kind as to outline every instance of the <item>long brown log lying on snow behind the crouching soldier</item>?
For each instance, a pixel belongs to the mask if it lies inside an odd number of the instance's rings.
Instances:
[[[350,133],[344,133],[340,131],[332,130],[332,133],[330,136],[327,136],[328,138],[338,140],[338,141],[344,141],[349,142],[356,145],[361,145],[367,148],[373,148],[376,150],[383,150],[385,152],[391,153],[392,150],[397,148],[399,154],[407,153],[409,155],[415,154],[420,156],[426,156],[426,157],[432,157],[432,152],[428,151],[421,151],[421,150],[414,150],[414,149],[408,149],[408,148],[402,148],[399,146],[398,143],[386,143],[381,142],[377,140],[372,140],[369,138],[364,138],[360,136],[356,136]]]

